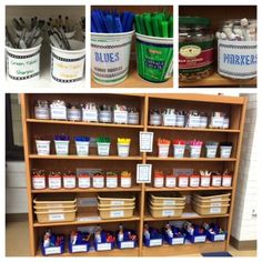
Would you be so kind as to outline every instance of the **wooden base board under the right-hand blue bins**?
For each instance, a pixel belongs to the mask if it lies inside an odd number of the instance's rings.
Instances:
[[[161,246],[143,246],[142,255],[143,256],[171,256],[171,255],[183,255],[188,256],[190,254],[201,254],[204,252],[222,252],[226,251],[226,242],[210,242],[205,243],[188,243],[182,245],[169,245],[163,244]]]

